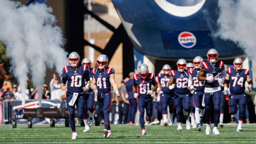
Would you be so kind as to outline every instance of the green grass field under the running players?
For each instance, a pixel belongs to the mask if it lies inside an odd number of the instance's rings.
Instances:
[[[202,131],[197,129],[186,130],[186,125],[182,125],[183,131],[177,132],[177,125],[163,127],[160,125],[146,126],[146,136],[140,136],[139,125],[111,125],[113,136],[103,138],[104,126],[90,125],[90,132],[83,133],[84,127],[76,125],[78,134],[77,140],[71,140],[71,128],[64,125],[27,125],[17,124],[17,128],[12,125],[0,126],[0,143],[23,144],[23,143],[213,143],[213,144],[242,144],[256,143],[256,124],[244,124],[242,132],[236,132],[236,124],[226,124],[223,128],[218,128],[220,135],[205,134],[205,124]],[[213,125],[211,130],[213,129]]]

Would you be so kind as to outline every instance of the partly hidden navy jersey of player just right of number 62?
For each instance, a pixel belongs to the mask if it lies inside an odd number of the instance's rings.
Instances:
[[[193,68],[193,69],[190,69],[189,74],[193,78],[193,83],[194,83],[193,86],[196,89],[196,91],[204,91],[204,81],[197,80],[198,72],[195,68]]]

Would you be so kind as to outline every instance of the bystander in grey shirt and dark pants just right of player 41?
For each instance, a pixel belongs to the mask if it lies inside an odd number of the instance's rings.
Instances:
[[[130,78],[128,78],[129,80]],[[118,98],[118,123],[122,124],[127,123],[127,114],[128,114],[128,107],[129,107],[129,100],[127,100],[126,95],[128,96],[126,92],[126,87],[125,87],[126,80],[121,80],[121,87],[118,89],[120,92],[121,96]]]

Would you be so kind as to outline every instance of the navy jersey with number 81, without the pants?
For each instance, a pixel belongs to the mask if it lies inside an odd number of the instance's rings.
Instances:
[[[152,84],[156,84],[154,73],[148,73],[148,77],[145,79],[141,79],[139,74],[133,75],[133,85],[137,88],[139,99],[151,99],[151,95],[147,94],[147,92],[151,90]]]

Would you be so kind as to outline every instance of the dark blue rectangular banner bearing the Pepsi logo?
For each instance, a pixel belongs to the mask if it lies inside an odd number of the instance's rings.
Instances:
[[[201,31],[164,31],[162,39],[165,49],[205,49],[213,48],[211,32]]]

